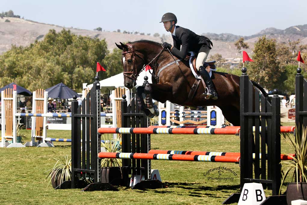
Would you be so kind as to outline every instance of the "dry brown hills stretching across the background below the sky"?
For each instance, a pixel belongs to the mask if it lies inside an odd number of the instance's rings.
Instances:
[[[5,22],[5,20],[10,22]],[[24,20],[21,18],[0,18],[0,54],[9,50],[11,45],[28,46],[35,40],[41,40],[50,29],[54,29],[57,32],[64,27],[44,24],[39,22],[33,22],[30,20]],[[108,45],[108,49],[112,51],[115,46],[115,42],[128,42],[138,40],[150,40],[161,42],[161,37],[153,37],[140,34],[123,34],[119,32],[100,32],[94,30],[83,30],[77,28],[65,28],[71,30],[72,33],[82,36],[88,36],[91,38],[105,39]],[[153,32],[154,33],[154,32]],[[302,26],[292,26],[285,30],[267,28],[260,31],[258,34],[251,36],[237,36],[234,34],[214,34],[204,33],[204,36],[209,37],[213,42],[213,48],[210,54],[220,53],[223,58],[238,57],[239,53],[234,46],[234,42],[240,37],[244,37],[250,49],[246,49],[248,53],[254,48],[255,41],[262,35],[267,35],[269,38],[276,38],[278,42],[288,42],[297,39],[301,39],[302,44],[307,44],[307,24]],[[172,43],[171,35],[165,35],[164,41]]]

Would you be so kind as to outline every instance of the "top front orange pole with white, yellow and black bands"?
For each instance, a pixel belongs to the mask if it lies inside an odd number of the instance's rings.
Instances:
[[[235,135],[240,128],[98,128],[101,134]]]

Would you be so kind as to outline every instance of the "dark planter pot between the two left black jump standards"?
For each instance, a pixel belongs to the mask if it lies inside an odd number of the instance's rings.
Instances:
[[[101,182],[108,182],[114,186],[119,186],[122,183],[122,172],[120,167],[102,167]]]

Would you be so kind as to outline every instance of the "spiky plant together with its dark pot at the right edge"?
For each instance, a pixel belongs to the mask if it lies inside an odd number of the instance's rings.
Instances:
[[[281,191],[282,184],[284,183],[287,175],[291,170],[294,170],[292,175],[292,181],[295,178],[295,183],[289,183],[286,191],[287,203],[291,204],[291,201],[296,199],[307,200],[307,127],[300,129],[295,129],[295,137],[287,133],[286,136],[289,138],[291,148],[294,150],[295,156],[286,154],[292,160],[282,161],[282,183],[279,189]]]

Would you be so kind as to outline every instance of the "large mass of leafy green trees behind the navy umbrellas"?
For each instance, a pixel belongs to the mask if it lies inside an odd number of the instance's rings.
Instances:
[[[59,33],[49,30],[42,41],[27,47],[13,45],[0,56],[0,86],[14,81],[34,91],[63,82],[80,92],[82,83],[93,81],[96,62],[108,53],[105,40],[77,36],[65,29]]]

